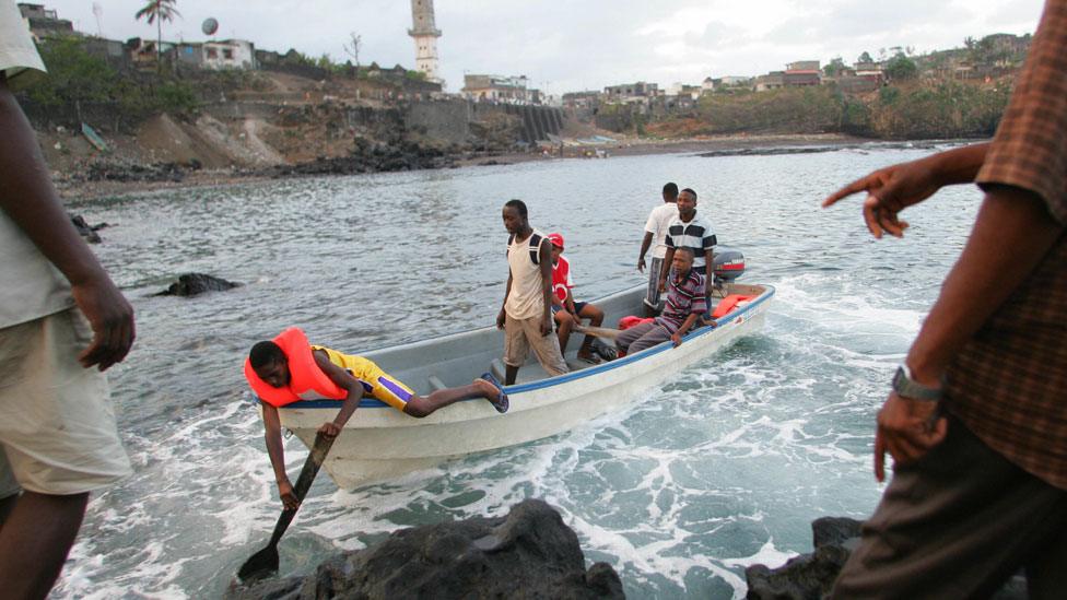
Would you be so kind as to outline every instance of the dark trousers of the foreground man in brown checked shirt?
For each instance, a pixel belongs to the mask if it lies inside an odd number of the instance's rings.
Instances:
[[[1025,568],[1030,598],[1067,595],[1067,491],[990,449],[960,421],[898,467],[833,598],[986,598]]]

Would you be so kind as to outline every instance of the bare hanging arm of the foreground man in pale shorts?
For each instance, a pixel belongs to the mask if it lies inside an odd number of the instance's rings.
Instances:
[[[0,72],[0,209],[26,233],[71,284],[78,307],[93,328],[79,360],[105,370],[133,345],[133,307],[78,235],[48,177],[30,121]]]

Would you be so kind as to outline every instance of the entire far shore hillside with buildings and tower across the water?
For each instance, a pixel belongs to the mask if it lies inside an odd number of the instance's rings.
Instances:
[[[446,93],[429,0],[412,2],[411,70],[244,39],[106,39],[42,4],[19,8],[49,69],[20,99],[57,178],[75,184],[197,169],[424,168],[738,134],[985,137],[1030,45],[1029,35],[997,34],[927,55],[890,48],[852,63],[798,60],[757,77],[667,89],[638,81],[556,97],[525,75],[473,73]]]

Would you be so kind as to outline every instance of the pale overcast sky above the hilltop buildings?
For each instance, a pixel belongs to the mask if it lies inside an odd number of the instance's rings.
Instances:
[[[40,2],[42,0],[35,0]],[[44,0],[60,19],[95,34],[93,0]],[[133,20],[143,0],[96,0],[105,37],[155,37]],[[164,39],[199,42],[200,24],[216,38],[257,48],[329,54],[343,62],[350,32],[362,36],[360,62],[414,68],[409,0],[178,0],[180,19]],[[1033,33],[1041,0],[436,0],[441,74],[447,90],[464,73],[525,74],[550,93],[650,81],[700,83],[757,75],[786,62],[913,47],[960,47],[966,36]]]

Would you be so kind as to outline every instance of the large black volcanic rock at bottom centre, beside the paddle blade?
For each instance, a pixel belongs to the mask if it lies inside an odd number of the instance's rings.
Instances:
[[[507,517],[402,529],[327,560],[314,575],[234,586],[232,599],[624,598],[606,563],[587,572],[578,537],[544,502]]]

